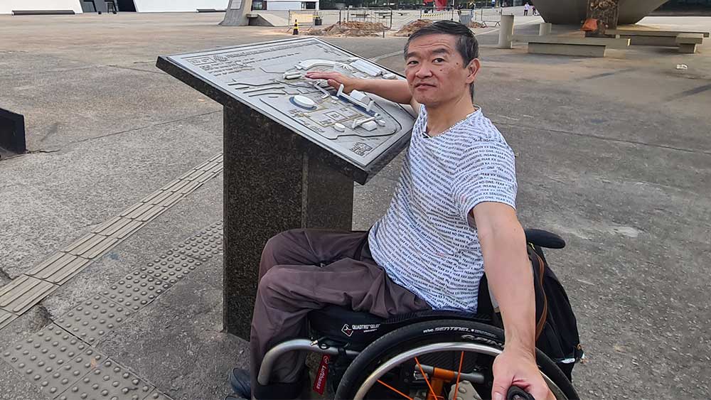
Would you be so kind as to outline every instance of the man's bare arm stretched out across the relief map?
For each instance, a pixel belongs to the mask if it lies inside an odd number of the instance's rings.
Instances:
[[[307,72],[306,77],[309,79],[326,80],[328,85],[336,89],[343,85],[343,92],[346,93],[358,90],[358,92],[373,93],[391,102],[410,104],[415,114],[419,113],[419,103],[412,97],[410,87],[407,85],[406,80],[360,79],[347,77],[338,72],[321,71]]]

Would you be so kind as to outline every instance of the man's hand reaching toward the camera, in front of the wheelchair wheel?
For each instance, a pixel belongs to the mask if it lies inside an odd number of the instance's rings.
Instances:
[[[527,391],[535,400],[555,400],[538,370],[535,356],[528,350],[504,347],[493,362],[491,398],[506,399],[506,391],[512,385]]]

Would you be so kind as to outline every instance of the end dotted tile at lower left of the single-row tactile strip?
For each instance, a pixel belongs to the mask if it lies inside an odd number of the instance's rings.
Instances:
[[[94,296],[55,321],[89,345],[126,320],[132,311],[102,296]]]

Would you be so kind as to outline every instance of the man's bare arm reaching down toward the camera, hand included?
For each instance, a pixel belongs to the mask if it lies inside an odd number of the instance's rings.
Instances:
[[[481,243],[484,271],[501,310],[506,345],[493,365],[492,399],[506,398],[511,385],[537,400],[555,399],[535,362],[535,293],[525,234],[515,210],[480,202],[471,211]]]

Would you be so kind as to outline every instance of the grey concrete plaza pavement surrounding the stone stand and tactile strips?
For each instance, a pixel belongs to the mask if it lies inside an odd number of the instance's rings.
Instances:
[[[220,107],[153,66],[157,55],[285,34],[220,20],[0,17],[0,107],[25,115],[31,151],[0,161],[0,286],[221,150]],[[711,18],[642,23],[711,28]],[[530,24],[517,33],[537,31]],[[636,47],[590,60],[528,55],[523,45],[498,50],[496,33],[483,32],[477,102],[517,153],[520,218],[569,243],[548,258],[589,357],[574,372],[579,393],[710,397],[710,45],[697,55]],[[328,40],[365,57],[405,41]],[[400,55],[378,62],[402,70]],[[401,161],[355,187],[355,229],[383,213]],[[93,261],[1,329],[0,347],[182,249],[220,220],[221,185],[219,175],[205,181]],[[221,254],[212,255],[95,349],[173,399],[228,394],[226,373],[246,363],[247,350],[221,332]],[[0,362],[0,398],[46,398],[38,388]]]

